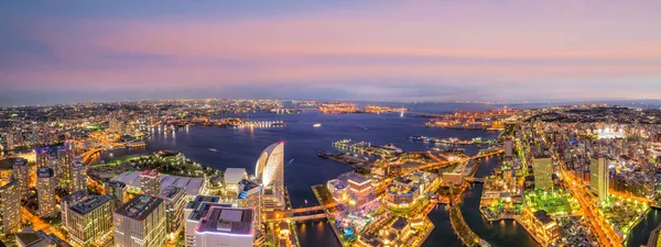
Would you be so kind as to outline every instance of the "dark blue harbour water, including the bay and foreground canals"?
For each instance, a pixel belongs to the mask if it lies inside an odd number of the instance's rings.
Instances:
[[[438,112],[452,112],[455,105]],[[219,128],[191,127],[174,133],[153,132],[147,139],[147,149],[117,149],[101,155],[101,158],[119,157],[131,154],[149,153],[160,149],[183,151],[187,158],[204,166],[220,170],[229,167],[246,168],[254,172],[254,166],[260,153],[270,144],[284,141],[285,143],[285,186],[290,192],[294,207],[316,205],[312,186],[323,184],[337,178],[351,168],[332,160],[317,157],[318,150],[346,151],[335,149],[332,142],[350,138],[366,141],[372,145],[394,144],[404,150],[425,150],[431,147],[446,148],[444,145],[424,144],[405,139],[410,135],[431,137],[458,137],[469,139],[483,137],[496,138],[498,133],[483,131],[463,131],[425,127],[425,119],[399,114],[338,114],[327,115],[318,112],[302,114],[277,115],[271,113],[253,113],[235,115],[250,121],[284,121],[286,126],[264,128]],[[225,117],[225,116],[219,116]],[[313,124],[321,123],[321,127]],[[467,155],[479,150],[476,146],[463,146]],[[499,164],[498,158],[485,159],[476,177],[484,177]],[[468,190],[462,205],[462,212],[470,228],[491,246],[522,247],[539,246],[534,239],[513,221],[488,223],[479,213],[481,186],[476,184]],[[454,235],[448,212],[438,206],[429,215],[435,228],[423,245],[462,246]],[[659,222],[661,215],[655,211],[650,213],[643,223],[637,226],[629,243],[647,242],[647,235]],[[644,227],[643,227],[644,226]],[[306,222],[299,224],[297,233],[303,247],[339,247],[333,229],[326,222]],[[643,239],[644,238],[644,239]],[[639,244],[638,244],[639,245]],[[638,246],[628,245],[628,246]]]

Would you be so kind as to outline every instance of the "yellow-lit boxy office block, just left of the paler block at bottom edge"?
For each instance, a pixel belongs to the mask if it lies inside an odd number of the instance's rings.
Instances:
[[[67,211],[67,232],[77,246],[104,246],[111,240],[112,197],[89,195],[69,206]],[[65,209],[63,209],[65,210]]]

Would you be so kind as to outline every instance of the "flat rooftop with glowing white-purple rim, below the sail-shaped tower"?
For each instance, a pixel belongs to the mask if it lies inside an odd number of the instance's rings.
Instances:
[[[252,209],[212,206],[195,232],[252,235],[253,221]]]

